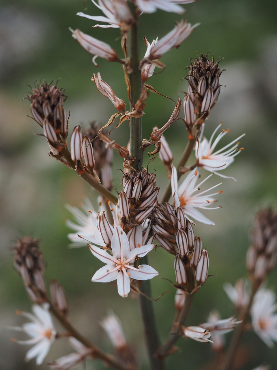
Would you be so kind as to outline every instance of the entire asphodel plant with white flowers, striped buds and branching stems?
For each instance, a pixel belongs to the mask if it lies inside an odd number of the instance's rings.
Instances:
[[[92,252],[92,258],[98,258],[103,263],[92,276],[92,282],[109,283],[116,280],[117,291],[122,299],[128,299],[131,290],[137,295],[145,329],[149,368],[153,370],[164,369],[165,357],[176,351],[175,343],[181,337],[204,343],[212,342],[213,350],[217,355],[220,354],[220,361],[212,361],[205,369],[232,369],[233,356],[242,331],[247,327],[247,315],[253,307],[252,303],[257,301],[257,294],[269,296],[269,293],[259,289],[267,273],[274,267],[276,256],[276,214],[264,211],[266,221],[261,222],[259,216],[256,219],[253,243],[247,253],[247,268],[253,282],[250,298],[248,293],[243,295],[242,283],[237,288],[226,287],[236,307],[239,307],[239,320],[234,316],[220,320],[218,313],[212,313],[208,323],[187,323],[194,296],[209,277],[208,251],[202,247],[201,237],[194,234],[194,225],[215,225],[206,216],[206,211],[221,208],[213,206],[217,196],[222,193],[219,188],[222,182],[218,181],[218,177],[235,180],[224,171],[222,174],[222,170],[232,164],[236,155],[242,151],[239,140],[244,134],[220,146],[220,140],[229,134],[229,130],[223,129],[220,124],[216,125],[210,138],[204,136],[205,122],[219,97],[221,71],[219,61],[199,54],[195,59],[191,58],[184,76],[188,83],[187,92],[184,92],[182,99],[170,97],[174,101],[174,109],[169,112],[161,127],[155,126],[150,137],[144,138],[142,120],[147,121],[144,109],[148,95],[163,95],[148,82],[151,82],[155,71],[163,72],[165,65],[160,60],[163,55],[170,53],[172,48],[179,48],[198,24],[191,25],[181,19],[168,34],[157,37],[151,43],[145,35],[146,49],[143,51],[139,49],[142,40],[138,38],[138,28],[144,13],[159,10],[177,13],[181,17],[184,13],[181,5],[193,1],[98,0],[98,3],[93,3],[102,10],[103,16],[78,13],[79,16],[104,23],[94,27],[117,28],[114,32],[122,37],[121,50],[114,50],[109,44],[91,35],[71,29],[73,38],[94,55],[95,65],[99,57],[116,63],[119,72],[123,70],[122,78],[126,81],[126,96],[129,100],[126,102],[115,95],[99,72],[92,77],[96,89],[114,106],[114,114],[106,118],[105,125],[100,126],[94,122],[87,129],[82,130],[80,126],[71,129],[63,107],[66,96],[57,84],[44,82],[36,86],[27,97],[31,103],[33,119],[41,126],[49,144],[50,157],[73,169],[100,196],[95,206],[86,199],[82,211],[68,206],[76,218],[75,222],[67,221],[67,226],[74,231],[68,237],[71,246],[86,246]],[[144,31],[147,33],[147,30]],[[163,95],[161,98],[167,97]],[[177,120],[184,123],[187,141],[181,158],[173,164],[174,156],[165,136],[166,130]],[[125,146],[117,144],[113,139],[113,130],[120,125],[130,129],[130,141]],[[122,158],[124,168],[122,188],[116,191],[112,181],[114,151]],[[166,176],[169,177],[163,194],[156,182],[156,174],[144,166],[155,156],[160,157],[167,171]],[[193,164],[188,165],[190,157],[195,159],[190,160]],[[180,183],[181,177],[183,179]],[[213,181],[213,184],[208,187],[205,182],[211,177],[210,182]],[[164,343],[161,343],[157,331],[150,287],[150,279],[156,278],[158,271],[147,262],[147,254],[153,253],[158,246],[164,249],[165,259],[167,253],[174,255],[171,269],[174,269],[176,276],[176,282],[172,282],[175,293],[172,311],[175,310],[175,317]],[[64,337],[69,340],[74,352],[51,361],[49,365],[52,369],[71,369],[89,359],[100,359],[103,364],[115,369],[133,370],[142,366],[140,359],[144,356],[136,353],[136,347],[127,343],[121,323],[114,313],[105,317],[101,323],[113,344],[113,355],[91,343],[71,324],[63,287],[57,280],[51,280],[49,294],[47,292],[43,255],[38,240],[30,237],[19,239],[14,254],[16,269],[34,302],[34,314],[18,311],[31,322],[22,327],[13,327],[30,337],[18,343],[34,344],[26,354],[27,360],[36,358],[37,364],[41,364],[51,344]],[[109,303],[113,308],[112,302]],[[259,312],[259,306],[257,310]],[[270,312],[272,314],[272,310]],[[61,322],[66,333],[57,332],[52,315]],[[259,318],[253,322],[254,330],[270,344],[277,339],[276,320],[271,321],[270,329],[271,333],[275,330],[274,334],[262,332],[265,327],[269,330],[266,319],[260,329],[257,328]],[[235,327],[239,330],[238,334],[225,356],[223,334]],[[268,335],[271,335],[270,339]]]

